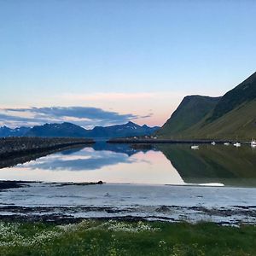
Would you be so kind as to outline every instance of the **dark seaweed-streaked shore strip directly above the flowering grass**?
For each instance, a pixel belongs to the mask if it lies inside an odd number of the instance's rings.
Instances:
[[[220,225],[255,225],[256,206],[234,206],[232,209],[207,207],[160,206],[141,207],[144,214],[135,214],[134,207],[21,207],[0,206],[1,220],[26,220],[28,222],[50,222],[55,224],[79,223],[84,219],[120,220],[120,221],[167,221],[167,222],[213,222]],[[147,209],[148,208],[148,209]],[[145,211],[148,211],[147,213]],[[83,216],[90,212],[105,212],[97,216]],[[189,214],[188,214],[189,212]],[[162,213],[162,214],[160,214]],[[177,217],[178,214],[178,217]],[[191,216],[190,216],[191,215]],[[194,218],[192,218],[194,215]],[[235,217],[236,216],[236,217]]]

